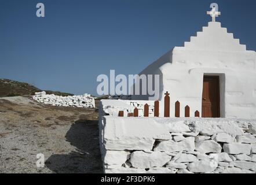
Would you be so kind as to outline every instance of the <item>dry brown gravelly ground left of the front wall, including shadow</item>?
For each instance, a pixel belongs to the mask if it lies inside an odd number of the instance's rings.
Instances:
[[[0,98],[0,173],[101,173],[96,109]],[[36,154],[45,166],[36,166]]]

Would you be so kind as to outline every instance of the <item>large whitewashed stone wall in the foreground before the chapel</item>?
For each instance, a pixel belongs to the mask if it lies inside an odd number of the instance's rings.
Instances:
[[[256,120],[116,117],[103,110],[101,103],[105,173],[256,171]]]

